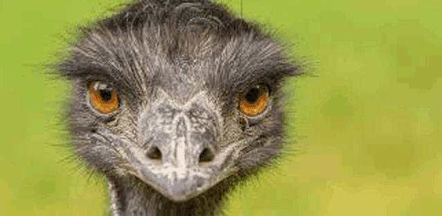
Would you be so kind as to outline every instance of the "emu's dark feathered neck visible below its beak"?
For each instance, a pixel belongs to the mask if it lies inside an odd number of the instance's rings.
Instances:
[[[135,177],[108,179],[111,215],[218,215],[231,185],[226,180],[198,197],[174,202]]]

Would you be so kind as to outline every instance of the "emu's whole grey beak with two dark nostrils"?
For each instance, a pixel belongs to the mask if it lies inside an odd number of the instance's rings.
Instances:
[[[155,102],[139,118],[139,142],[121,140],[134,175],[173,201],[200,195],[238,168],[241,142],[220,148],[220,122],[198,95],[185,105]]]

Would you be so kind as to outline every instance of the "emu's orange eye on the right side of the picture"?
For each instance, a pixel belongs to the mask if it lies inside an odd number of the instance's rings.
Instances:
[[[269,89],[261,84],[250,89],[240,100],[240,110],[247,116],[255,116],[267,107]]]

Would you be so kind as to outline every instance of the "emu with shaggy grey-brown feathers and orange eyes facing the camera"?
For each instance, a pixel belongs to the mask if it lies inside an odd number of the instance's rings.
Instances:
[[[299,66],[258,24],[206,0],[144,0],[82,29],[74,154],[103,174],[110,213],[218,215],[283,150],[283,92]]]

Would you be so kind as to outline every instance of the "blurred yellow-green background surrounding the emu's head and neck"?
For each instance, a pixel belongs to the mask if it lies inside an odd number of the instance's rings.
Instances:
[[[102,214],[100,177],[88,181],[53,146],[66,140],[56,123],[70,87],[42,65],[117,4],[0,2],[0,215]],[[288,149],[302,154],[233,192],[229,215],[441,215],[441,1],[243,0],[242,10],[318,76],[286,88]]]

